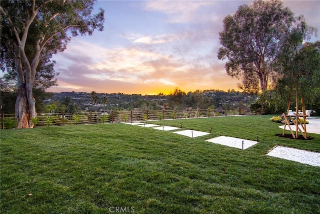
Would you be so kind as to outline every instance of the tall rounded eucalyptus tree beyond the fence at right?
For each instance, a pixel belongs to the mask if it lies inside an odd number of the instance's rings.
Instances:
[[[256,85],[262,92],[267,89],[272,65],[282,48],[280,41],[293,21],[293,13],[279,0],[257,0],[224,18],[218,59],[227,60],[229,76],[242,77],[244,91],[256,93]]]

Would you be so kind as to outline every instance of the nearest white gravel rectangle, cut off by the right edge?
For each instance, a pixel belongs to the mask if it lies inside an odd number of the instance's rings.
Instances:
[[[285,146],[276,146],[267,153],[267,155],[312,166],[320,166],[320,153],[318,152],[305,151]]]

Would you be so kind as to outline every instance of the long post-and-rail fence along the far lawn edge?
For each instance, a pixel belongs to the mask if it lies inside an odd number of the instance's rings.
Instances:
[[[166,120],[183,118],[218,117],[229,115],[248,115],[246,109],[185,109],[185,110],[131,110],[108,112],[78,112],[78,113],[38,113],[35,127],[121,123],[146,120]],[[14,114],[1,114],[1,128],[14,128]]]

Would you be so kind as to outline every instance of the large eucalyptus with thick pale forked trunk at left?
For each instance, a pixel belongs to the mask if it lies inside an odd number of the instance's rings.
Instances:
[[[41,59],[64,51],[71,37],[103,30],[104,11],[92,15],[93,5],[94,1],[85,0],[1,1],[1,40],[7,43],[5,48],[13,59],[1,58],[1,64],[14,64],[17,128],[33,127],[31,118],[36,117],[36,111],[32,88]]]

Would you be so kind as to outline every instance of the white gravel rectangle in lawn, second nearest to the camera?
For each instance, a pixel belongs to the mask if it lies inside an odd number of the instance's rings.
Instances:
[[[238,149],[242,149],[242,141],[243,141],[243,149],[247,149],[257,143],[257,141],[253,141],[253,140],[246,140],[246,139],[241,139],[236,137],[227,137],[227,136],[214,137],[206,141],[225,145],[225,146],[230,146]]]

